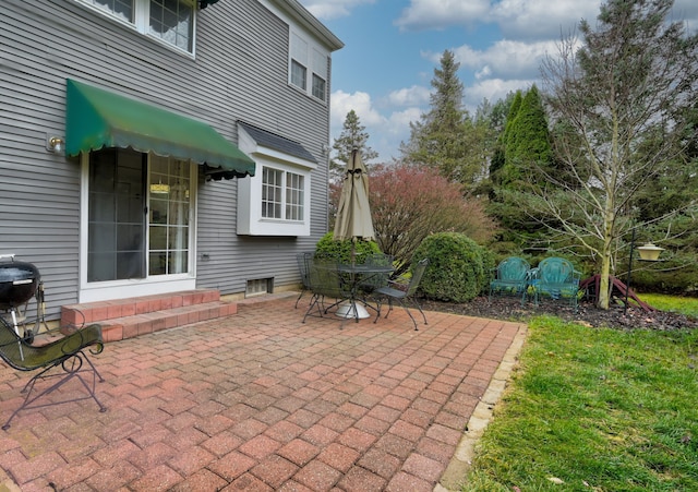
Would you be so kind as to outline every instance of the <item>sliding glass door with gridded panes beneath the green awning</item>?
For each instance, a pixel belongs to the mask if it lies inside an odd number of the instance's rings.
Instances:
[[[131,149],[92,152],[87,281],[190,272],[192,166]]]

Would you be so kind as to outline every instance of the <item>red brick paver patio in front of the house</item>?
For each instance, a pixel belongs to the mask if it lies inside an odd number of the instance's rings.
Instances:
[[[92,400],[0,431],[22,491],[433,491],[524,325],[311,317],[294,297],[107,344]],[[301,309],[303,308],[303,309]],[[29,374],[0,367],[0,420]],[[77,386],[67,385],[61,392]],[[0,482],[2,482],[0,475]],[[3,485],[0,483],[0,490]]]

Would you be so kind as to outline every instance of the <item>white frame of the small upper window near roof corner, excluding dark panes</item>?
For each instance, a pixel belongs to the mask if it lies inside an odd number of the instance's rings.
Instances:
[[[314,43],[308,36],[300,32],[289,31],[289,59],[288,59],[288,83],[292,87],[302,91],[313,99],[327,103],[327,85],[328,85],[328,60],[329,51],[317,43]],[[303,84],[299,84],[294,77],[293,64],[305,69],[305,80]],[[320,79],[324,82],[323,94],[315,94],[314,80]]]

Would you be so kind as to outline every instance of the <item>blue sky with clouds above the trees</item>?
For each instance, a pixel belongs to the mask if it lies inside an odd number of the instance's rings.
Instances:
[[[494,103],[539,81],[545,53],[581,19],[593,25],[601,0],[299,0],[345,47],[333,53],[332,142],[351,109],[375,161],[399,157],[409,122],[429,110],[444,50],[460,63],[465,105]],[[676,0],[675,19],[698,26],[698,2]]]

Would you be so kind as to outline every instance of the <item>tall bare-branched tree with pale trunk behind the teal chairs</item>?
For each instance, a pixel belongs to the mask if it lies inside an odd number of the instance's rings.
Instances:
[[[638,227],[633,199],[677,160],[697,97],[698,36],[669,22],[672,4],[609,0],[595,29],[580,23],[581,47],[569,36],[543,63],[554,151],[567,173],[546,175],[526,206],[599,260],[602,309],[617,241]]]

